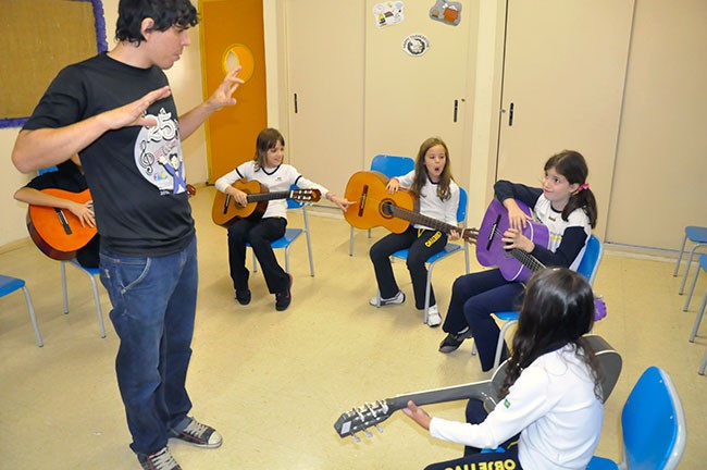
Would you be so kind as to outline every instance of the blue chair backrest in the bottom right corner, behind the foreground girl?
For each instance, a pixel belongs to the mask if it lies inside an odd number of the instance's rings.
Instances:
[[[685,449],[685,415],[670,375],[649,367],[621,412],[627,468],[674,469]]]

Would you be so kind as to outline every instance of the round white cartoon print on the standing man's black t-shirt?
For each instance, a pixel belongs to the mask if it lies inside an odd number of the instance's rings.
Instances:
[[[177,123],[164,108],[153,127],[142,127],[135,141],[135,164],[145,177],[160,189],[160,194],[179,194],[186,190],[184,160]]]

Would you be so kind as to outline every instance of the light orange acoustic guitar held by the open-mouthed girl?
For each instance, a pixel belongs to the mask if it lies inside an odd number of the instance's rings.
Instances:
[[[388,178],[380,172],[355,173],[346,185],[346,199],[356,201],[344,213],[346,221],[356,228],[384,226],[393,233],[405,232],[411,223],[424,225],[449,234],[461,232],[470,243],[476,240],[475,228],[460,228],[414,211],[414,198],[405,189],[388,193]]]

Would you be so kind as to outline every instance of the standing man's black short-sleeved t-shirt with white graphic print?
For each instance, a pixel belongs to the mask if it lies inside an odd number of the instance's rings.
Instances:
[[[24,128],[63,127],[164,85],[159,67],[133,67],[102,53],[62,70]],[[119,255],[169,255],[195,233],[174,100],[157,101],[147,113],[154,127],[109,131],[79,153],[101,247]]]

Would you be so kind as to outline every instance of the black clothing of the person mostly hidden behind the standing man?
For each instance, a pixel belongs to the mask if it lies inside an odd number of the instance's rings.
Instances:
[[[62,189],[70,193],[82,193],[88,189],[86,177],[80,169],[71,160],[57,165],[57,171],[34,177],[25,185],[28,188],[42,190],[48,188]],[[85,268],[98,268],[100,236],[96,235],[88,244],[76,251],[76,260]]]

